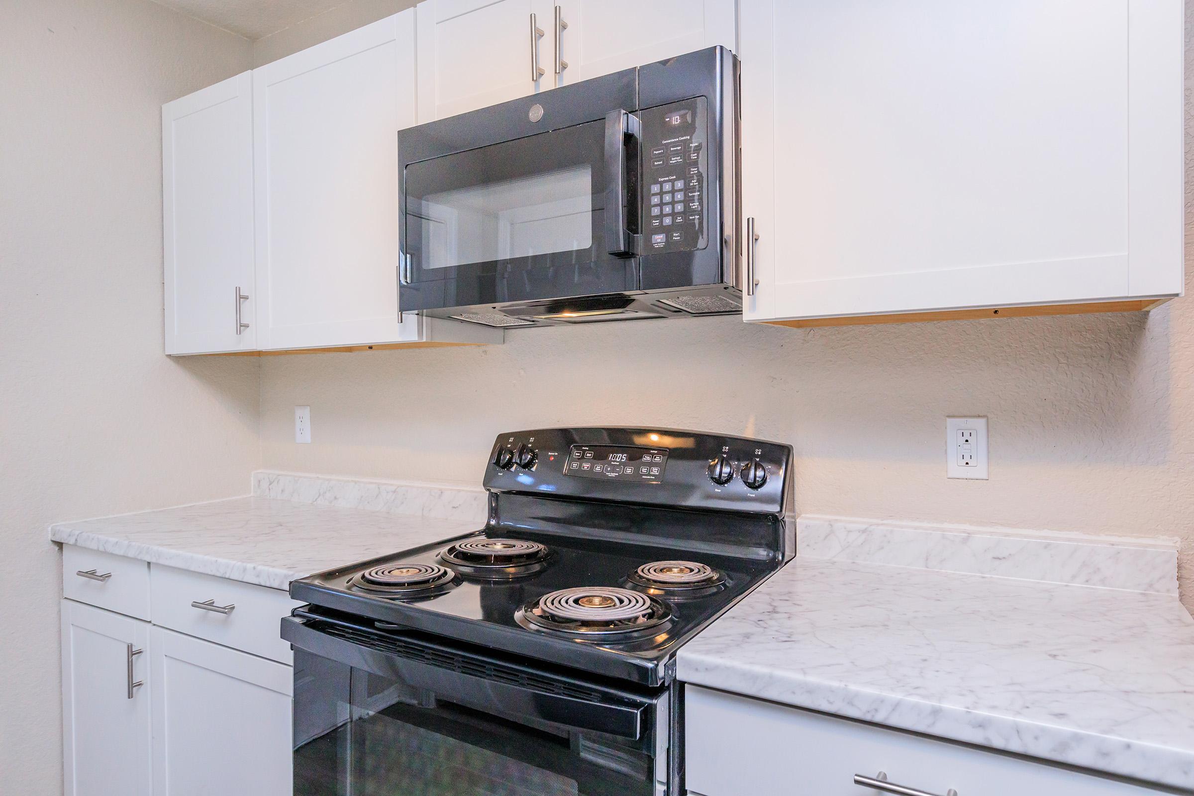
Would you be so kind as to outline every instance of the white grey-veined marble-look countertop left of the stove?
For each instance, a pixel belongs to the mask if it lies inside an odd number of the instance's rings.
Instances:
[[[296,578],[469,533],[481,524],[271,498],[233,498],[59,523],[50,526],[50,538],[287,588]]]

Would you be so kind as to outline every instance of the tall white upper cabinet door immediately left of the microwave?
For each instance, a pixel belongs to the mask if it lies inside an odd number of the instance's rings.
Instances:
[[[263,350],[417,340],[398,314],[398,130],[414,10],[253,72]]]

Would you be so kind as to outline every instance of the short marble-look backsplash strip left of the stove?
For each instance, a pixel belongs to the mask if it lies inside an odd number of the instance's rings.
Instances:
[[[485,524],[488,513],[488,499],[484,489],[419,486],[368,479],[338,479],[273,470],[253,473],[253,495],[319,506],[367,508],[414,517],[470,520],[478,526]]]

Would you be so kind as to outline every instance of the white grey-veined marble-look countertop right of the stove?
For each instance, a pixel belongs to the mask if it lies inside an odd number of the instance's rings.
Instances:
[[[1194,619],[1169,594],[796,557],[678,677],[1194,788]]]

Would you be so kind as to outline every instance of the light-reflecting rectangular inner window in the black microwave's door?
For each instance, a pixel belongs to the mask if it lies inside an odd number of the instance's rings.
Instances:
[[[421,227],[421,265],[447,269],[587,249],[592,181],[586,163],[408,200]]]

